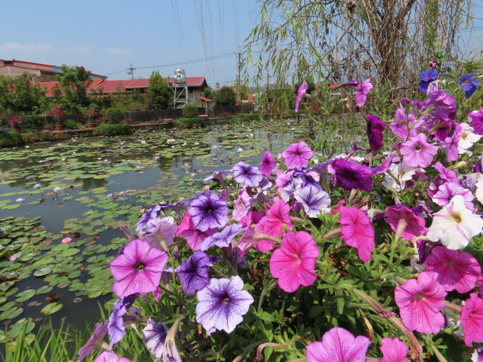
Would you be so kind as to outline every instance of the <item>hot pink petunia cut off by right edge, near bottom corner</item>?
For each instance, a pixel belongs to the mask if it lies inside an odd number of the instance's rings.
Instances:
[[[470,346],[473,341],[483,341],[483,299],[477,293],[471,293],[464,301],[460,322],[463,325],[464,344]]]

